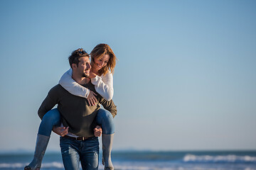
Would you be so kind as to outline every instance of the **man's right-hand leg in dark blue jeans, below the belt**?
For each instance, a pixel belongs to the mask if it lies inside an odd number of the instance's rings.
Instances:
[[[99,165],[99,140],[90,137],[81,142],[80,161],[83,170],[97,170]]]

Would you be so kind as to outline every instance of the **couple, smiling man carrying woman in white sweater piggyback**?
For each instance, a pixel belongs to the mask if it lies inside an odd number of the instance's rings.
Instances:
[[[102,164],[105,169],[114,169],[111,161],[113,118],[117,114],[112,101],[114,52],[109,45],[99,44],[90,55],[82,48],[73,51],[68,60],[71,69],[50,89],[38,110],[42,121],[36,149],[33,161],[24,169],[41,168],[52,130],[60,135],[65,169],[79,169],[80,162],[82,169],[98,169],[101,134]],[[55,104],[58,108],[52,109]]]

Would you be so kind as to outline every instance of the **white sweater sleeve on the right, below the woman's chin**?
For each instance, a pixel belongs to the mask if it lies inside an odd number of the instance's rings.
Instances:
[[[95,90],[100,96],[105,98],[107,101],[110,101],[114,95],[113,88],[113,75],[110,72],[107,72],[104,76],[96,76],[91,79],[92,84],[95,85]]]

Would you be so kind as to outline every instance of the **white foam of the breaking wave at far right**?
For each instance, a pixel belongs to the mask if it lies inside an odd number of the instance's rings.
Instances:
[[[230,155],[217,155],[217,156],[209,156],[209,155],[194,155],[194,154],[186,154],[183,157],[183,162],[247,162],[247,163],[256,163],[256,157],[250,156],[237,156],[234,154]]]

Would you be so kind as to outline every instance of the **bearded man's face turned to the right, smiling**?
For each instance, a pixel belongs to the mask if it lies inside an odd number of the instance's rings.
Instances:
[[[89,77],[91,68],[89,57],[81,57],[78,63],[78,73],[80,76]]]

